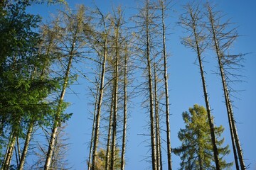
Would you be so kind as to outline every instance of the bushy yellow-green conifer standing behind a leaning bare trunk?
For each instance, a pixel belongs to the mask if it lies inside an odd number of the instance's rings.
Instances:
[[[174,154],[181,157],[180,169],[215,169],[213,157],[213,145],[210,142],[210,127],[206,108],[195,104],[188,112],[183,112],[182,117],[185,128],[178,132],[181,147],[174,149]],[[230,153],[228,145],[222,147],[224,138],[219,139],[224,128],[220,125],[214,128],[217,140],[218,153],[223,157]],[[220,157],[220,169],[232,166]]]

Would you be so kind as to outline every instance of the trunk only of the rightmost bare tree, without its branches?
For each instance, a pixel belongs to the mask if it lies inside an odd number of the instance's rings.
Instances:
[[[242,149],[240,147],[240,142],[238,139],[238,132],[237,129],[235,127],[235,120],[233,119],[233,109],[232,109],[232,105],[230,102],[230,97],[228,94],[228,86],[226,84],[225,81],[225,72],[224,72],[224,68],[223,68],[223,63],[221,60],[221,56],[220,56],[220,48],[219,48],[219,44],[218,44],[218,39],[216,37],[216,33],[215,33],[215,26],[214,26],[214,18],[213,18],[213,13],[211,11],[210,6],[208,6],[208,13],[209,13],[209,18],[210,18],[210,26],[211,26],[211,33],[213,34],[213,41],[214,41],[214,46],[215,46],[215,52],[217,54],[218,57],[218,67],[220,69],[220,76],[221,76],[221,80],[223,83],[223,92],[224,92],[224,96],[225,96],[225,105],[227,108],[227,113],[228,113],[228,123],[230,126],[230,135],[231,135],[231,141],[232,141],[232,145],[233,145],[233,154],[234,154],[234,159],[235,159],[235,166],[236,169],[239,169],[238,166],[238,158],[240,161],[240,167],[242,170],[245,170],[245,162],[243,161],[243,157],[242,157]],[[236,148],[235,148],[236,145]],[[237,157],[237,150],[238,149],[238,157]]]

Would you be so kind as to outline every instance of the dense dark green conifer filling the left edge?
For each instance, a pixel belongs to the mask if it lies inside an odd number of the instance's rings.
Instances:
[[[50,113],[53,105],[45,98],[58,89],[56,79],[41,77],[46,58],[39,55],[41,36],[34,30],[41,19],[26,12],[29,5],[28,1],[14,1],[4,8],[6,15],[0,20],[0,39],[4,42],[0,53],[0,134],[3,137],[9,133],[2,169],[9,168],[16,140],[18,144],[18,137],[24,137],[24,127],[30,125],[31,120],[43,122],[44,116]]]

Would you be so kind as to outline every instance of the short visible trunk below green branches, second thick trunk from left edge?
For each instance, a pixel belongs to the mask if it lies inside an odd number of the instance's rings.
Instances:
[[[32,137],[33,125],[34,125],[33,121],[31,121],[31,123],[29,123],[29,125],[28,125],[28,131],[26,133],[26,140],[25,140],[25,143],[24,143],[23,152],[22,152],[22,155],[21,155],[21,159],[20,159],[21,161],[20,161],[20,164],[18,166],[18,170],[22,170],[23,167],[24,167],[26,154],[28,152],[28,145],[29,145],[29,142],[30,142],[31,137]]]

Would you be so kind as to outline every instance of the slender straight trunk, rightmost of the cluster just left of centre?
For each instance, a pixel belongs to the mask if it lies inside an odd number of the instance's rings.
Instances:
[[[121,170],[124,170],[125,165],[125,148],[126,148],[126,135],[127,135],[127,47],[125,47],[124,55],[124,123],[122,130],[122,152],[121,152]]]

